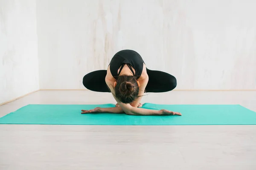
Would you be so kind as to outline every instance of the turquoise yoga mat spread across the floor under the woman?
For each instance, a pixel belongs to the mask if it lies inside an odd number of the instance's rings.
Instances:
[[[156,105],[143,108],[178,111],[182,116],[130,116],[126,114],[81,114],[81,109],[106,105],[26,105],[0,118],[0,124],[48,125],[256,125],[256,113],[241,105]]]

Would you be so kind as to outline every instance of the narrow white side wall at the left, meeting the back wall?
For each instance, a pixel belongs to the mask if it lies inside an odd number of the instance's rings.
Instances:
[[[0,103],[39,89],[35,0],[0,0]]]

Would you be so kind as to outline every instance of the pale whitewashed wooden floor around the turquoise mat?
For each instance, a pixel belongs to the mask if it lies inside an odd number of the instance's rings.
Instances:
[[[143,102],[256,111],[256,91],[172,91]],[[27,104],[104,103],[114,103],[111,94],[38,91],[0,106],[0,116]],[[0,125],[0,170],[255,170],[255,159],[254,125]]]

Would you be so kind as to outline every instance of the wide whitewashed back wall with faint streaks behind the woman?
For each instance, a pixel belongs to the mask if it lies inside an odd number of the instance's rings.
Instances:
[[[177,89],[256,89],[255,0],[37,0],[40,88],[82,78],[133,49]]]

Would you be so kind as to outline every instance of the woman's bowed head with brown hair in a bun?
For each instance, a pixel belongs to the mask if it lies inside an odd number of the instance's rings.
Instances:
[[[116,98],[125,104],[133,102],[138,98],[139,86],[135,76],[119,76],[115,82]]]

